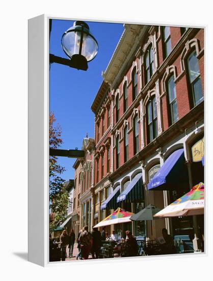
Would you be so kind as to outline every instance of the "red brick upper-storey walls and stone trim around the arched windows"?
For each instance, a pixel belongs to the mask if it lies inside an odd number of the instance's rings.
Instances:
[[[152,37],[153,36],[153,37]],[[120,165],[124,164],[124,136],[123,129],[128,127],[128,159],[134,157],[134,128],[132,126],[134,117],[139,116],[139,151],[143,150],[148,145],[148,131],[147,131],[147,102],[149,98],[156,97],[156,103],[159,105],[160,114],[157,114],[158,126],[161,123],[161,128],[158,128],[157,134],[160,135],[165,132],[172,124],[169,120],[168,110],[168,89],[167,81],[174,75],[175,88],[176,88],[176,101],[178,111],[178,121],[183,118],[194,107],[190,99],[189,91],[189,78],[187,58],[192,51],[196,50],[196,56],[199,62],[200,79],[202,84],[202,91],[204,92],[204,31],[202,29],[187,29],[181,35],[179,27],[170,28],[171,46],[172,51],[163,59],[163,35],[162,27],[152,27],[146,30],[146,35],[141,41],[140,51],[129,62],[129,67],[125,71],[125,75],[120,76],[120,81],[117,86],[110,89],[105,87],[105,92],[99,90],[97,94],[103,97],[104,102],[93,103],[92,109],[95,113],[95,184],[101,180],[101,158],[104,158],[104,169],[102,177],[107,176],[107,151],[109,149],[105,145],[106,140],[109,140],[111,150],[110,170],[111,174],[116,171],[116,137],[119,136],[120,145]],[[153,41],[150,40],[153,38]],[[145,84],[145,54],[149,45],[152,45],[154,51],[154,64],[155,71],[152,74],[150,81]],[[135,66],[134,66],[135,65]],[[133,101],[132,95],[132,71],[137,69],[137,97]],[[124,112],[124,94],[123,85],[127,82],[127,97],[128,109]],[[156,82],[158,81],[159,89],[156,89]],[[105,84],[105,82],[103,82]],[[101,85],[103,88],[103,84]],[[119,98],[117,98],[117,96]],[[159,101],[157,98],[159,97]],[[97,98],[97,97],[96,97]],[[119,120],[116,122],[117,102],[119,101]],[[141,104],[141,105],[140,105]],[[111,125],[108,128],[108,110],[110,106],[111,112]],[[143,112],[141,112],[143,110]],[[104,132],[102,132],[102,120],[104,116]],[[177,121],[177,124],[178,124]],[[141,124],[143,123],[143,124]],[[98,124],[99,124],[99,140],[98,140]],[[143,131],[141,130],[143,128]],[[143,141],[142,141],[143,135]],[[153,140],[154,141],[154,140]],[[113,157],[113,158],[112,158]],[[99,172],[97,178],[97,163],[99,165]]]

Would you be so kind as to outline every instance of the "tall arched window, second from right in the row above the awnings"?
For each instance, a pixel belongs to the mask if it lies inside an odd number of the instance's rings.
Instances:
[[[170,125],[172,125],[178,120],[174,76],[171,76],[170,79],[168,80],[167,90],[168,90],[169,120],[170,120]]]

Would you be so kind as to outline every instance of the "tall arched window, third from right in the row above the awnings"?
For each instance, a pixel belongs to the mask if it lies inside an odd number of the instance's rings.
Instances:
[[[147,104],[147,142],[150,143],[157,136],[157,108],[155,97]]]

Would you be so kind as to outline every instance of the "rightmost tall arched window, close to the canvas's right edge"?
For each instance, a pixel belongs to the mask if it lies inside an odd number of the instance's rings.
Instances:
[[[203,100],[203,91],[200,79],[200,69],[196,51],[187,60],[189,87],[192,107],[198,105]]]

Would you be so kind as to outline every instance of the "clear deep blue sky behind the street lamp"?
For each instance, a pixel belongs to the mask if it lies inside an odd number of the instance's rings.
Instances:
[[[71,20],[52,20],[50,53],[66,57],[61,46],[63,33],[73,26]],[[94,113],[92,102],[101,85],[101,72],[113,55],[123,32],[122,24],[87,21],[90,31],[98,41],[98,54],[88,63],[88,70],[81,71],[57,63],[50,67],[50,111],[55,113],[62,127],[62,149],[81,149],[83,138],[94,137]],[[74,177],[74,158],[59,157],[58,162],[66,168],[65,180]]]

